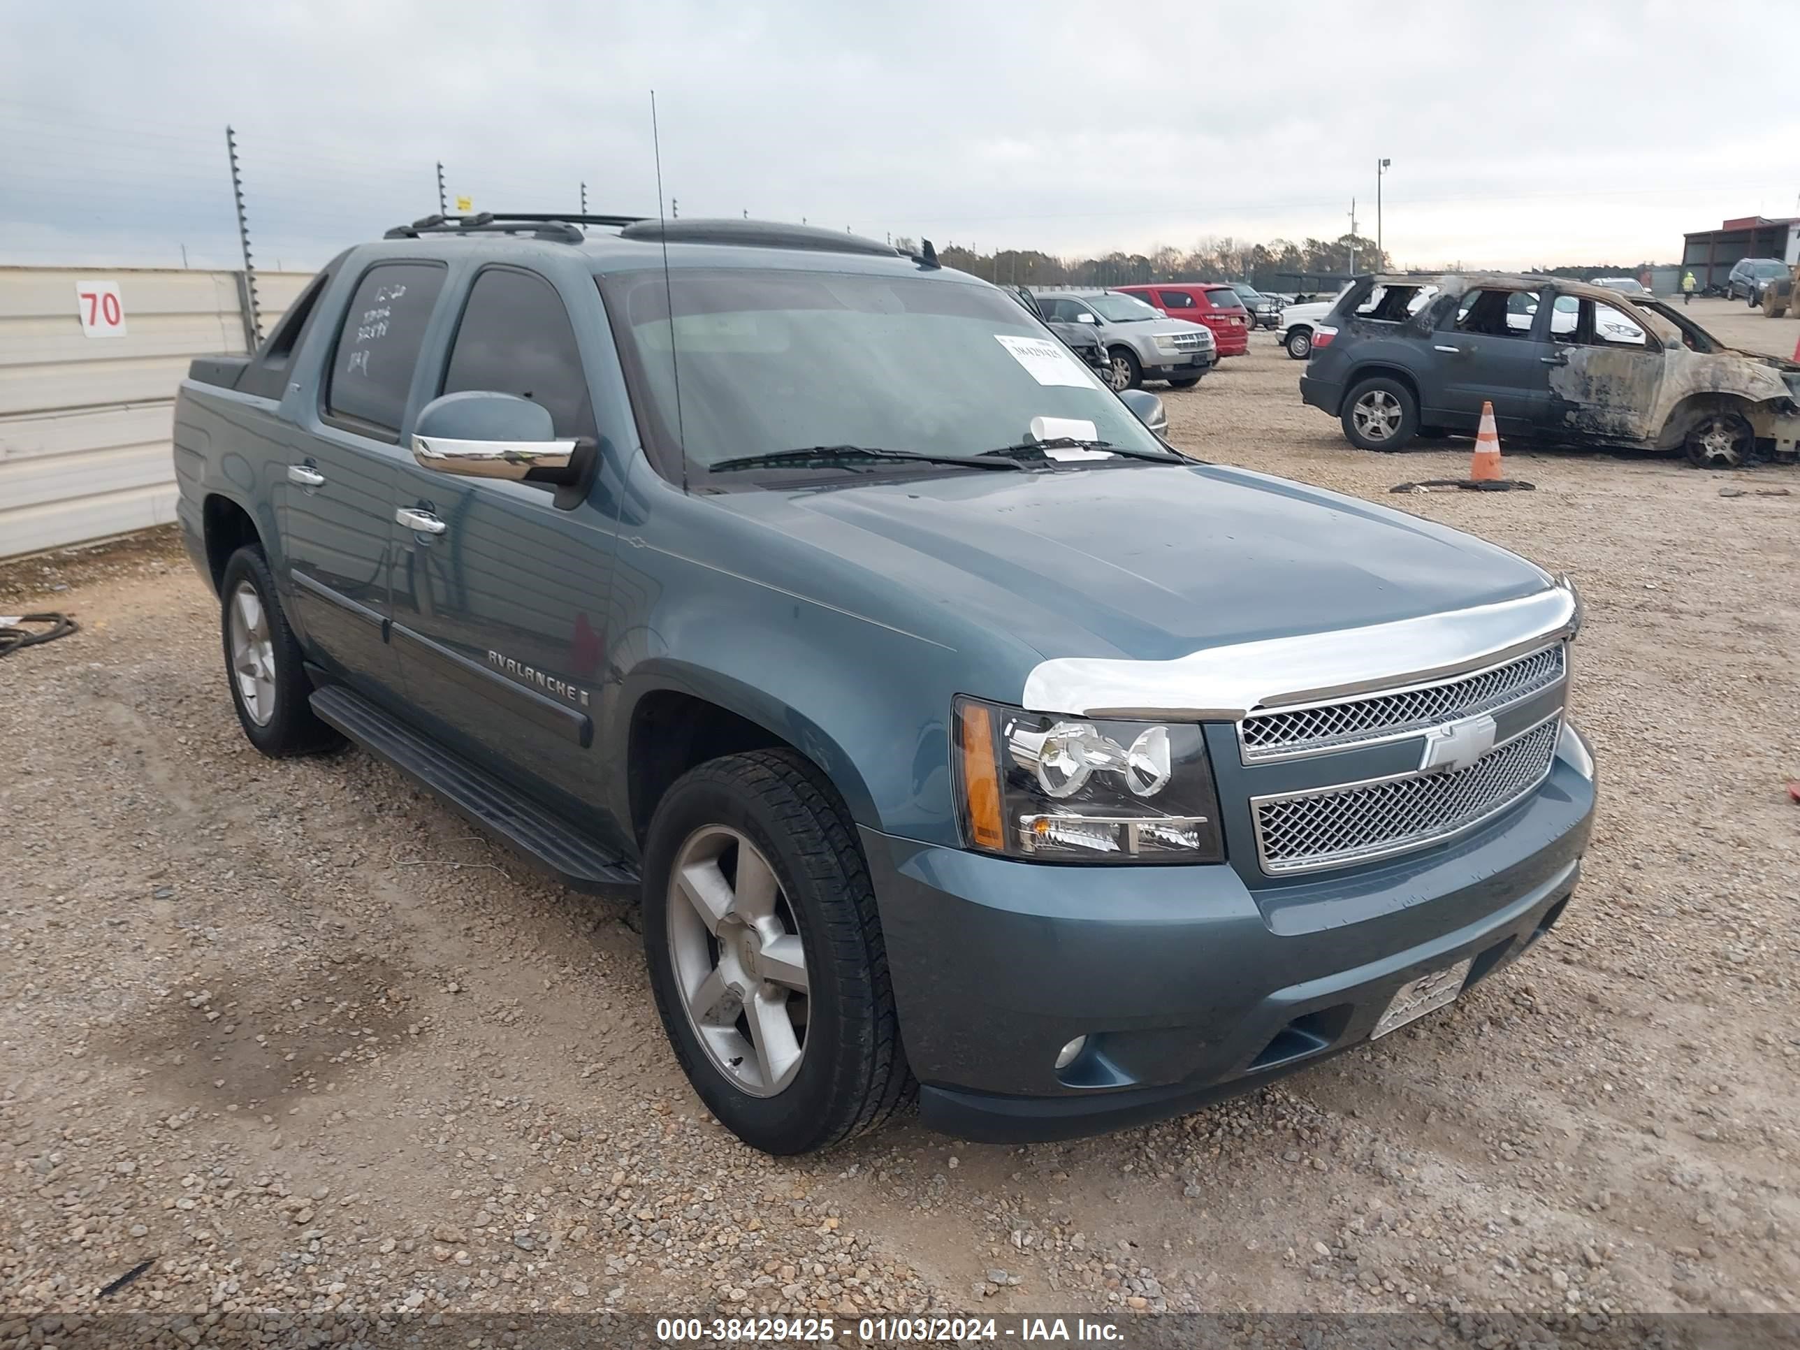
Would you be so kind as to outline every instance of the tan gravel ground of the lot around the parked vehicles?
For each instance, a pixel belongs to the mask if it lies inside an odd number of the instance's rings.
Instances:
[[[1390,497],[1467,446],[1355,452],[1298,373],[1258,335],[1174,437],[1580,580],[1588,880],[1445,1013],[1067,1145],[743,1148],[625,909],[365,754],[248,747],[167,533],[0,571],[85,625],[0,662],[0,1343],[95,1307],[1795,1310],[1800,473],[1512,452],[1535,493]]]

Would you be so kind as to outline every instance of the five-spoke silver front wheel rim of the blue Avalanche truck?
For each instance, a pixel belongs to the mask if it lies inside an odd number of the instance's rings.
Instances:
[[[691,833],[668,927],[675,992],[713,1067],[751,1096],[781,1093],[806,1057],[806,945],[769,859],[722,824]]]

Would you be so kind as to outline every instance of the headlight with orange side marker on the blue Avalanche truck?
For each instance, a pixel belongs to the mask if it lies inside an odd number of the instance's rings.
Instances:
[[[1024,713],[958,698],[956,783],[972,848],[1044,862],[1220,862],[1219,797],[1193,724]]]

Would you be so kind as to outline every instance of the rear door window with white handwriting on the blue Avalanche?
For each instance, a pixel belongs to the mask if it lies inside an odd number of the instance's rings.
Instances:
[[[443,288],[437,263],[382,263],[364,274],[331,356],[328,416],[355,421],[376,439],[400,439],[425,324]]]

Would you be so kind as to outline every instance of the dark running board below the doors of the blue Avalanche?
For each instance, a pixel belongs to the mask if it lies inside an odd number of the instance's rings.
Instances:
[[[313,691],[311,704],[322,722],[414,778],[446,806],[563,886],[590,895],[637,898],[639,878],[634,866],[594,848],[574,826],[493,774],[441,749],[362,695],[342,684],[328,684]]]

